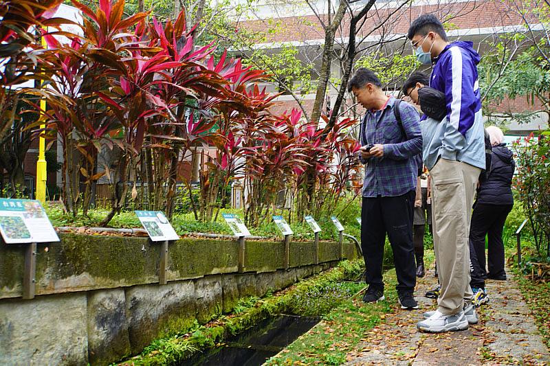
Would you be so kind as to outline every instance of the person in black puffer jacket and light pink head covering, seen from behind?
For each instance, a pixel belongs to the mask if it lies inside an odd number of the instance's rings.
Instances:
[[[503,144],[504,134],[500,128],[486,128],[491,139],[492,161],[487,180],[478,187],[476,203],[470,225],[470,286],[474,304],[489,300],[485,291],[485,279],[505,280],[503,228],[514,206],[511,179],[516,163],[512,152]],[[485,236],[489,236],[489,273],[485,271]]]

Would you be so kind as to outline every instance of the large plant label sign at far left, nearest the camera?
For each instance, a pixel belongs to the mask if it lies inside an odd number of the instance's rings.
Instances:
[[[58,242],[40,201],[0,198],[0,233],[4,242]]]

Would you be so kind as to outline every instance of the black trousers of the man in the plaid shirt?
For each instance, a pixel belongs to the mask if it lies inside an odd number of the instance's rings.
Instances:
[[[415,191],[397,197],[363,197],[361,246],[369,286],[384,289],[382,261],[387,233],[397,273],[397,291],[415,290],[415,249],[412,244],[414,205]]]

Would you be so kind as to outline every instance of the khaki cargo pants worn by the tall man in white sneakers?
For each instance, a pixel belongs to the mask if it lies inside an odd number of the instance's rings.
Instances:
[[[439,159],[432,177],[432,221],[435,260],[441,293],[439,312],[456,314],[464,299],[472,299],[470,288],[470,219],[480,168]]]

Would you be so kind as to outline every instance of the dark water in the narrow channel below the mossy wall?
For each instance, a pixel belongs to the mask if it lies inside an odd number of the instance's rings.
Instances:
[[[279,315],[228,339],[222,347],[197,354],[180,365],[262,365],[316,325],[320,319]]]

